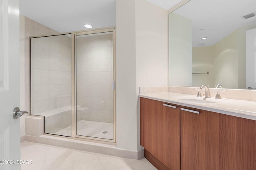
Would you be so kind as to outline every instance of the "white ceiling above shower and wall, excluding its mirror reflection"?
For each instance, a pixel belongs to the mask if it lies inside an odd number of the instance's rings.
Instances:
[[[181,0],[147,0],[168,10]],[[116,0],[20,0],[20,14],[60,33],[116,25]]]

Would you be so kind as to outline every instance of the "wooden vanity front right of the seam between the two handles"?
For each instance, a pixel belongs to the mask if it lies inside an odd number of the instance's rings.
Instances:
[[[256,121],[198,111],[180,110],[181,170],[256,170]]]

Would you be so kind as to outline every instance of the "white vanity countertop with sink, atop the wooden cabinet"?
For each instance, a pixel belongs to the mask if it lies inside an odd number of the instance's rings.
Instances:
[[[212,96],[212,98],[206,98],[206,100],[203,101],[204,97],[196,97],[195,95],[172,92],[148,93],[140,94],[139,96],[161,102],[177,104],[180,106],[193,107],[196,109],[203,109],[226,115],[256,120],[256,102],[254,101],[226,98],[215,99],[215,96]]]

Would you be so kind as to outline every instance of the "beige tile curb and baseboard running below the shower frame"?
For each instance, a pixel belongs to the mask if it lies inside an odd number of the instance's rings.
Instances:
[[[94,143],[89,141],[81,141],[76,139],[67,139],[63,137],[55,137],[49,135],[40,135],[39,137],[26,135],[26,141],[52,145],[56,147],[64,147],[68,149],[83,150],[88,152],[118,156],[122,158],[140,159],[144,157],[144,149],[138,151],[119,149],[116,145],[108,145],[105,143]]]

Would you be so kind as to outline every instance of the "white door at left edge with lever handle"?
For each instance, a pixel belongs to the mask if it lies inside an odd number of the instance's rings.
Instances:
[[[19,0],[0,0],[0,170],[20,169],[19,55]]]

